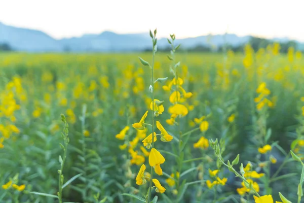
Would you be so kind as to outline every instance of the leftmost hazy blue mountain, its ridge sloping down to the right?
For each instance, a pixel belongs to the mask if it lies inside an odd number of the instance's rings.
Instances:
[[[28,52],[60,52],[62,45],[46,33],[13,27],[0,22],[0,44],[7,43],[13,50]]]

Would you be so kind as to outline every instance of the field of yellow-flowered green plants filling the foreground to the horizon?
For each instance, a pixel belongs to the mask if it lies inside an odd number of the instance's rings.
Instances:
[[[301,202],[301,52],[150,35],[145,53],[0,53],[0,202]]]

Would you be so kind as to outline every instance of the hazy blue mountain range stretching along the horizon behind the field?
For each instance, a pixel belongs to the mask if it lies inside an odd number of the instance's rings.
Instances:
[[[198,46],[221,47],[224,44],[230,46],[242,46],[248,43],[252,36],[239,37],[234,34],[208,35],[196,38],[177,39],[176,44],[182,44],[183,49],[194,49]],[[285,43],[288,38],[276,38],[274,41]],[[296,42],[300,50],[304,50],[304,44]],[[53,39],[46,33],[26,28],[13,27],[0,22],[0,45],[5,44],[16,51],[27,52],[127,52],[143,51],[151,47],[148,33],[118,34],[104,31],[97,34],[87,34],[82,37]],[[168,47],[166,39],[158,40],[158,47]]]

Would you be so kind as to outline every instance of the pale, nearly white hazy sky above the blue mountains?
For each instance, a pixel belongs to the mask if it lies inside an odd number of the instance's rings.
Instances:
[[[236,33],[304,41],[303,0],[0,0],[0,21],[54,38],[111,30],[159,37]]]

